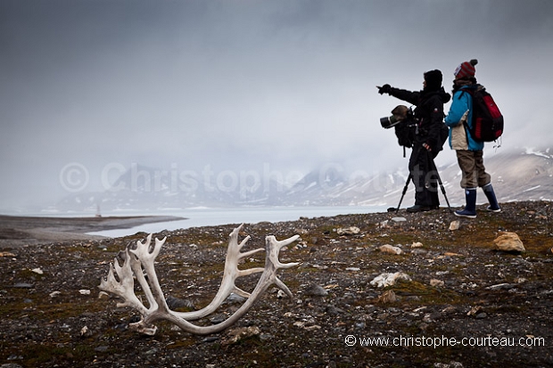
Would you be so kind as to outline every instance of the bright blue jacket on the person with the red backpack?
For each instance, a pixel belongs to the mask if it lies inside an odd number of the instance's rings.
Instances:
[[[450,112],[448,116],[445,117],[445,125],[448,127],[455,127],[458,125],[459,121],[468,110],[467,124],[469,127],[472,127],[473,124],[473,97],[466,92],[467,89],[476,89],[479,85],[472,86],[462,86],[458,91],[453,94],[453,99],[451,101]],[[468,151],[482,151],[483,142],[478,142],[473,139],[470,135],[468,129],[465,128],[466,139],[467,139],[467,149]],[[450,147],[451,147],[451,129],[450,129]]]

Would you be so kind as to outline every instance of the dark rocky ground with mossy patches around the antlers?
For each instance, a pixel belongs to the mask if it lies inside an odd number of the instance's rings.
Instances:
[[[0,367],[553,366],[553,204],[502,207],[499,214],[482,207],[456,230],[448,209],[246,224],[243,250],[263,247],[269,234],[300,235],[280,255],[300,265],[278,271],[293,298],[271,287],[235,325],[207,336],[167,322],[156,323],[153,336],[131,331],[136,312],[98,289],[110,262],[144,233],[4,242]],[[154,234],[168,237],[155,268],[169,305],[210,302],[235,227]],[[524,252],[495,249],[501,232],[516,233]],[[263,266],[264,257],[252,255],[241,268]],[[379,286],[386,274],[401,277]],[[254,274],[237,285],[252,290],[256,281]],[[229,298],[194,323],[220,323],[242,303]]]

